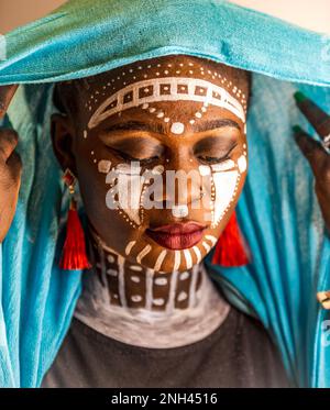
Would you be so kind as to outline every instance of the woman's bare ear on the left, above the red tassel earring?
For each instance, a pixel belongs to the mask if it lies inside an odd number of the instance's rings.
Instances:
[[[54,153],[63,170],[69,168],[76,174],[76,160],[74,155],[75,130],[70,119],[65,114],[52,114],[51,136]]]

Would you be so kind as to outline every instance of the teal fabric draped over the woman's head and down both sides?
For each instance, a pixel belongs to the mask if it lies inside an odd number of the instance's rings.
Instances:
[[[68,330],[81,273],[56,265],[67,196],[50,137],[54,81],[169,54],[253,71],[250,169],[238,217],[253,262],[206,263],[228,298],[258,317],[300,386],[330,386],[329,240],[314,179],[292,137],[300,89],[330,111],[330,40],[219,0],[73,0],[6,35],[0,85],[21,84],[3,125],[20,134],[23,177],[0,252],[0,386],[40,386]],[[59,241],[58,241],[59,237]]]

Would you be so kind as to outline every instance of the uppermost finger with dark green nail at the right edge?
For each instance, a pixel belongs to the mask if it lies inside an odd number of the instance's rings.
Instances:
[[[324,140],[330,135],[330,115],[300,91],[295,93],[295,99],[299,110],[311,123],[319,136]]]

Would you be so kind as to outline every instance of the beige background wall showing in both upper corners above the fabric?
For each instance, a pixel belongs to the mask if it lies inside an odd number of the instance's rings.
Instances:
[[[64,0],[0,0],[0,33],[35,20],[64,2]],[[330,0],[233,0],[233,2],[330,34]]]

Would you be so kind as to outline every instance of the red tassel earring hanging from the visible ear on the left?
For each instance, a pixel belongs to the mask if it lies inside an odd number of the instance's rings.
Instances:
[[[69,189],[72,199],[59,267],[66,270],[89,269],[91,265],[87,258],[85,234],[77,211],[77,202],[74,199],[76,177],[67,168],[63,180]]]

